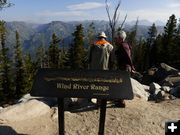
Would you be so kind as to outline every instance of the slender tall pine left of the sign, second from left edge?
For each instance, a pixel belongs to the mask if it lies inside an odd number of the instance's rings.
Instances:
[[[19,33],[16,30],[16,45],[14,46],[14,61],[15,61],[15,86],[16,96],[21,97],[24,91],[24,66],[22,59],[22,48],[20,43]]]

